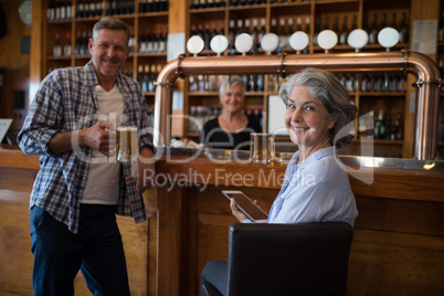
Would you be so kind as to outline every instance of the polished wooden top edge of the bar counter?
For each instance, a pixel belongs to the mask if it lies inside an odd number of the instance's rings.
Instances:
[[[39,157],[0,149],[0,167],[39,170]],[[286,165],[251,165],[230,159],[163,156],[156,163],[158,182],[181,181],[221,187],[279,189]],[[444,202],[444,172],[395,168],[347,167],[356,195]],[[364,181],[362,181],[364,180]]]

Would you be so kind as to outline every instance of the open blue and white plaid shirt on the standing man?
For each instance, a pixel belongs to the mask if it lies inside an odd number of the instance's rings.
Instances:
[[[80,147],[60,155],[52,155],[47,142],[55,133],[87,128],[97,123],[98,84],[93,63],[83,67],[54,70],[41,83],[32,102],[23,128],[18,136],[20,148],[27,155],[40,155],[40,170],[31,192],[30,207],[39,205],[56,220],[77,233],[80,205],[85,189],[93,150]],[[150,147],[147,106],[140,86],[134,80],[117,76],[117,86],[124,96],[125,125],[138,126],[139,147]],[[117,213],[130,215],[136,223],[146,220],[141,195],[136,193],[136,180],[125,180],[131,163],[121,163]]]

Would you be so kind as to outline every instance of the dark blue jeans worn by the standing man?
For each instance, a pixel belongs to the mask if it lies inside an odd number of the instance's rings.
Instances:
[[[82,271],[93,295],[129,295],[116,205],[82,204],[78,233],[39,207],[31,209],[34,295],[74,295]]]

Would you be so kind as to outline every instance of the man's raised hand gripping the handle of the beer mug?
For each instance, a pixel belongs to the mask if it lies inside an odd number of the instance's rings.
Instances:
[[[105,156],[112,156],[116,147],[116,134],[110,131],[108,121],[98,121],[94,126],[78,133],[81,146],[88,146]]]

